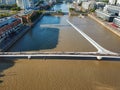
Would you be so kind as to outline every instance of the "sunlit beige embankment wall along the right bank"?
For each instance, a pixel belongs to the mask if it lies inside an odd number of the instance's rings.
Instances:
[[[98,23],[100,23],[101,25],[103,25],[105,28],[107,28],[111,32],[115,33],[117,36],[120,37],[120,30],[118,30],[117,28],[112,27],[106,21],[102,21],[101,19],[97,18],[95,15],[88,14],[88,16],[90,18],[94,19],[95,21],[97,21]]]

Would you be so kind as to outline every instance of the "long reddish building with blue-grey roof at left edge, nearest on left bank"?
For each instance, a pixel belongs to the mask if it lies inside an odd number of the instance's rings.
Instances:
[[[22,26],[21,19],[7,17],[0,19],[0,38],[6,38],[13,32],[16,32]]]

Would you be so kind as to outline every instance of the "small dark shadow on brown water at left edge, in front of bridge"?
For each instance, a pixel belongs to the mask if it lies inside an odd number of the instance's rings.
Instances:
[[[3,82],[1,77],[5,77],[6,75],[3,73],[4,70],[14,66],[14,60],[12,58],[0,58],[0,83]]]

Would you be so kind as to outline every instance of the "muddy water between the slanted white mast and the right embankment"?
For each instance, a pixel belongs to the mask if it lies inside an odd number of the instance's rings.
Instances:
[[[120,53],[120,37],[89,17],[70,17],[69,20],[102,47]]]

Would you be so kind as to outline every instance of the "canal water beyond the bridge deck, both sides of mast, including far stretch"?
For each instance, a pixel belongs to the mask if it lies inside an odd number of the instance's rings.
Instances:
[[[67,11],[68,5],[59,4],[54,10]],[[44,16],[25,36],[17,41],[8,51],[42,51],[42,52],[95,52],[81,34],[72,28],[66,20],[70,20],[104,48],[120,52],[120,38],[100,26],[89,17],[78,18],[64,16]]]

